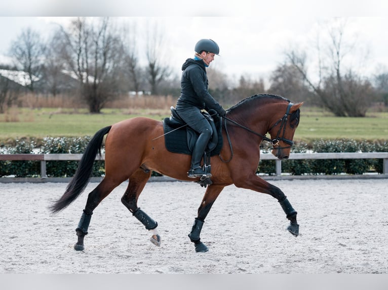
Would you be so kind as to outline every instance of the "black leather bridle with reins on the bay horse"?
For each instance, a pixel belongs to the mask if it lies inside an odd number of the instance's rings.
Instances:
[[[290,115],[290,109],[291,107],[293,106],[294,104],[292,104],[291,102],[288,103],[288,106],[287,106],[287,110],[286,110],[286,114],[284,114],[284,116],[282,118],[280,118],[273,126],[271,126],[267,132],[270,132],[273,128],[275,128],[276,126],[278,126],[280,124],[280,127],[279,127],[279,130],[278,130],[278,133],[276,135],[276,138],[274,139],[269,139],[267,136],[265,135],[262,135],[260,133],[257,133],[255,131],[253,131],[252,129],[244,126],[244,125],[241,125],[239,123],[237,123],[236,121],[234,120],[231,120],[227,117],[222,117],[224,119],[224,127],[225,127],[225,132],[226,132],[226,137],[227,137],[227,140],[228,140],[228,143],[229,143],[229,148],[230,148],[230,152],[231,152],[231,156],[230,158],[227,160],[227,161],[224,161],[221,157],[221,155],[219,155],[220,159],[222,162],[229,162],[232,157],[233,157],[233,148],[232,148],[232,144],[231,144],[231,141],[230,141],[230,137],[229,137],[229,133],[228,133],[228,130],[227,130],[227,127],[226,127],[226,121],[229,121],[231,123],[234,123],[235,125],[257,135],[257,136],[260,136],[263,140],[265,141],[268,141],[271,143],[271,145],[273,146],[273,148],[271,148],[270,150],[278,150],[278,152],[280,152],[281,149],[287,149],[287,148],[291,148],[294,144],[294,141],[293,140],[290,140],[290,139],[287,139],[284,137],[284,134],[286,132],[286,127],[287,127],[287,121],[288,121],[288,115]],[[283,134],[282,134],[282,131],[283,131]],[[280,136],[282,134],[282,136]],[[285,147],[280,147],[279,146],[279,142],[280,141],[283,141],[285,142],[286,144],[288,144],[289,146],[285,146]],[[275,148],[274,146],[278,146],[277,148]]]

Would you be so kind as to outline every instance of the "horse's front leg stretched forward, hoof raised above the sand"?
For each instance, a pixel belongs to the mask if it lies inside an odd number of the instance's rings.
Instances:
[[[240,181],[236,181],[235,185],[258,192],[263,192],[264,194],[268,194],[276,198],[280,203],[283,211],[285,212],[287,219],[290,221],[290,225],[287,227],[287,230],[294,236],[299,235],[299,225],[296,221],[297,212],[294,210],[286,195],[279,187],[268,183],[264,179],[258,177],[256,174],[251,174],[248,178],[245,177],[240,179]]]

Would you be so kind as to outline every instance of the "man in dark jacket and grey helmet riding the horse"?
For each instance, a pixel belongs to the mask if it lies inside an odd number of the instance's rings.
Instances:
[[[194,58],[187,59],[182,65],[181,93],[176,104],[176,111],[188,126],[199,133],[191,156],[191,167],[187,172],[190,178],[202,177],[206,174],[201,168],[201,160],[213,133],[211,125],[201,114],[201,110],[213,109],[219,116],[226,114],[208,91],[206,68],[218,54],[219,47],[215,41],[201,39],[195,46]],[[208,173],[206,177],[211,177],[211,174]]]

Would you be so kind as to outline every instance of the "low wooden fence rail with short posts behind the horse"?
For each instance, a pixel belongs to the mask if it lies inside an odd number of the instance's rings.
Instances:
[[[82,154],[0,154],[3,161],[41,161],[41,177],[47,177],[47,161],[79,161]],[[261,160],[276,160],[276,175],[282,175],[282,161],[272,154],[261,154]],[[388,174],[388,152],[367,152],[367,153],[291,153],[288,160],[292,159],[383,159],[382,174]],[[101,159],[105,160],[105,154]]]

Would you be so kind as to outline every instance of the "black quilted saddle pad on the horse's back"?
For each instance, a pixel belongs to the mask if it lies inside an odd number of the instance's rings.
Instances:
[[[170,126],[170,123],[170,118],[165,118],[163,120],[166,149],[173,153],[191,155],[193,145],[198,139],[198,133],[188,126],[177,129],[176,125]],[[218,155],[222,149],[223,143],[219,119],[215,120],[214,123],[217,128],[217,132],[214,134],[218,134],[218,142],[216,147],[210,152],[210,156]]]

